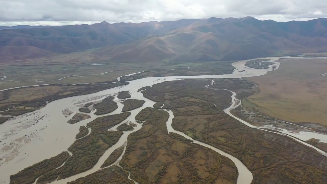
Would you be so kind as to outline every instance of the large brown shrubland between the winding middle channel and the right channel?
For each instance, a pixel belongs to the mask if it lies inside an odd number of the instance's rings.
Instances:
[[[227,82],[224,79],[217,83]],[[246,97],[249,87],[240,79],[229,80]],[[241,160],[253,174],[252,183],[321,183],[327,180],[327,158],[303,144],[278,134],[250,128],[223,109],[231,93],[208,89],[210,81],[182,80],[155,84],[143,93],[173,111],[172,126]],[[253,85],[253,84],[252,84]],[[211,86],[210,86],[211,87]],[[219,87],[217,84],[215,87]],[[242,93],[243,90],[243,93]]]

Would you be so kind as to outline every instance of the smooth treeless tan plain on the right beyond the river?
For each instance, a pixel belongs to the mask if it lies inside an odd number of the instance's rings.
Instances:
[[[283,60],[277,70],[248,80],[260,93],[242,101],[246,108],[289,122],[327,125],[325,59]]]

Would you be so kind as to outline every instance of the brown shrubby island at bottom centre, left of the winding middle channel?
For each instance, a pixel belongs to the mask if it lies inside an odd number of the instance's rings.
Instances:
[[[168,134],[165,111],[147,107],[136,116],[142,128],[129,135],[120,165],[138,183],[236,183],[225,156]]]

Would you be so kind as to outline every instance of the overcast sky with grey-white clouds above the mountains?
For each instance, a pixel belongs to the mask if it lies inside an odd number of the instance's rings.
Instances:
[[[68,25],[200,18],[310,20],[327,0],[0,0],[0,25]]]

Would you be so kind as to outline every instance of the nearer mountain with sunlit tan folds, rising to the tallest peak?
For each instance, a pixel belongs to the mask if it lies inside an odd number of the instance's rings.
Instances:
[[[242,60],[327,50],[327,38],[318,37],[323,35],[322,28],[317,31],[318,36],[313,37],[312,31],[312,37],[308,37],[307,33],[295,33],[294,30],[285,29],[284,25],[273,25],[269,24],[270,21],[260,21],[252,17],[218,19],[211,21],[212,24],[203,24],[204,22],[201,20],[164,36],[138,43],[121,45],[114,49],[104,47],[95,54],[103,58],[111,56],[113,61],[120,62],[128,62],[131,58],[139,62],[163,59],[193,62]],[[155,49],[150,50],[149,46]],[[148,57],[154,53],[158,57]]]

